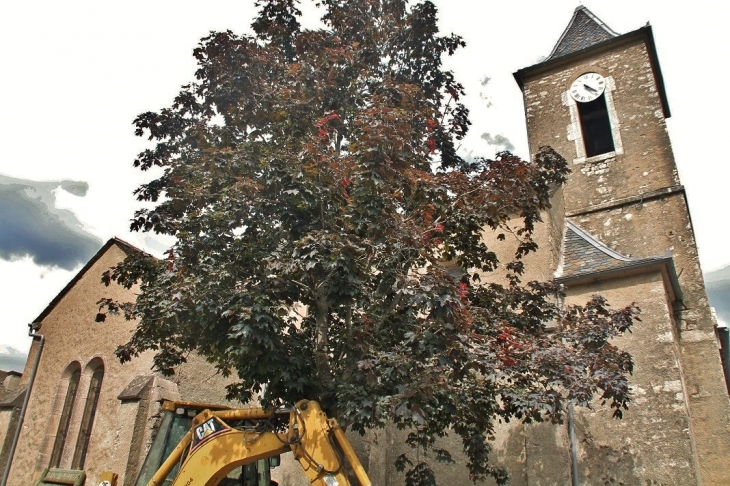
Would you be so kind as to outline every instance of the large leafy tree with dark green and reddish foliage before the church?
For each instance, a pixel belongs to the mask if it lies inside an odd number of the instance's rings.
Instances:
[[[503,482],[495,420],[560,422],[597,392],[620,416],[632,362],[609,340],[637,309],[560,309],[552,284],[521,281],[567,165],[548,148],[457,154],[468,111],[442,58],[464,42],[439,34],[433,3],[318,4],[312,30],[296,0],[260,0],[255,35],[202,39],[196,81],[135,120],[154,148],[134,165],[162,171],[137,189],[154,208],[132,229],[176,243],[105,274],[141,285],[136,302],[101,302],[139,320],[118,356],[154,350],[171,373],[195,351],[242,401],[307,397],[352,430],[408,427],[431,451],[398,460],[408,484],[434,482],[428,458],[449,460],[433,449],[452,430],[471,477]],[[484,228],[516,222],[508,282],[480,283],[499,265]]]

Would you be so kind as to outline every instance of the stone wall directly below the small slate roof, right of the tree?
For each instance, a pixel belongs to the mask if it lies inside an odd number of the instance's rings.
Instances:
[[[631,353],[632,401],[620,420],[609,404],[576,414],[580,484],[696,484],[686,383],[672,309],[659,272],[570,288],[566,303],[600,294],[613,308],[632,302],[641,322],[613,344]]]

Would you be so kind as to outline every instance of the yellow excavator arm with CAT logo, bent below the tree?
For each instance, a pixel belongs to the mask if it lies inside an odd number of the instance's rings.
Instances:
[[[179,471],[172,486],[213,486],[239,466],[285,452],[294,454],[313,485],[349,486],[344,467],[346,460],[360,485],[371,486],[344,431],[335,419],[327,418],[317,402],[302,400],[288,413],[286,432],[259,432],[235,429],[227,422],[267,420],[273,412],[257,408],[204,410],[193,418],[192,428],[148,486],[162,486],[178,463]]]

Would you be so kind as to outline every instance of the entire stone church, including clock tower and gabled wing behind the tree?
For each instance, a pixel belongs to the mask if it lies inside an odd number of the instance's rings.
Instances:
[[[611,419],[596,402],[566,426],[503,426],[496,462],[512,485],[730,484],[728,388],[651,27],[618,34],[578,7],[550,55],[514,77],[531,153],[550,145],[572,168],[538,228],[540,251],[527,257],[526,280],[556,280],[567,303],[601,294],[614,308],[636,302],[642,313],[617,340],[635,362],[624,418]],[[512,244],[485,239],[504,252]],[[151,356],[125,365],[114,357],[134,323],[114,316],[95,323],[96,302],[133,294],[103,287],[99,276],[133,251],[110,240],[32,324],[38,337],[22,376],[0,375],[0,473],[30,393],[9,485],[33,484],[48,467],[84,469],[87,484],[112,470],[120,485],[133,484],[159,400],[224,400],[223,380],[194,357],[175,382],[150,372]],[[358,445],[373,484],[403,484],[393,467],[400,433],[373,433]],[[471,484],[461,466],[438,472],[443,484]],[[305,484],[294,474],[275,477]]]

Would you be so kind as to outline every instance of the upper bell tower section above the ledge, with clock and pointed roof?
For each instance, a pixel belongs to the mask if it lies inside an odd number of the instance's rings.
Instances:
[[[548,58],[515,77],[531,151],[551,145],[571,162],[568,213],[683,191],[650,26],[618,35],[578,7]]]

